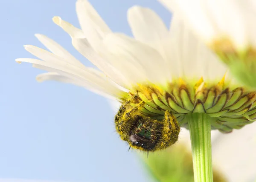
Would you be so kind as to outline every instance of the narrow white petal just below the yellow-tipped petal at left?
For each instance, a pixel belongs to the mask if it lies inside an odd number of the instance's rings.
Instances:
[[[44,44],[53,54],[58,55],[61,58],[64,58],[71,64],[84,66],[80,61],[78,61],[73,55],[71,55],[67,50],[65,50],[62,46],[56,43],[54,40],[48,38],[45,35],[35,34],[35,37]]]

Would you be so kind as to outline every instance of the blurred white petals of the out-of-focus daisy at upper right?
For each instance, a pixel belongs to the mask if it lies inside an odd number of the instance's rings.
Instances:
[[[253,0],[159,0],[186,20],[204,42],[229,38],[237,49],[256,42]],[[249,20],[249,22],[248,22]],[[253,31],[251,31],[253,30]]]

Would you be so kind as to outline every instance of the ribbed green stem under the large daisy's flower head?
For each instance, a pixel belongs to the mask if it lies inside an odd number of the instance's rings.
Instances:
[[[186,115],[192,146],[195,182],[213,182],[210,117],[204,113]]]

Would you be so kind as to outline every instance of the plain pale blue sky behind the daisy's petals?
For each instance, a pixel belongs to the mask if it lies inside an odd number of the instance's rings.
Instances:
[[[41,33],[92,66],[51,20],[57,15],[79,26],[75,2],[0,2],[0,178],[147,182],[143,165],[116,134],[115,113],[105,98],[73,85],[39,84],[35,76],[41,70],[15,62],[15,58],[33,58],[23,49],[25,44],[44,48],[34,37]],[[126,11],[135,4],[154,9],[169,24],[169,12],[156,0],[90,2],[114,32],[131,35]]]

